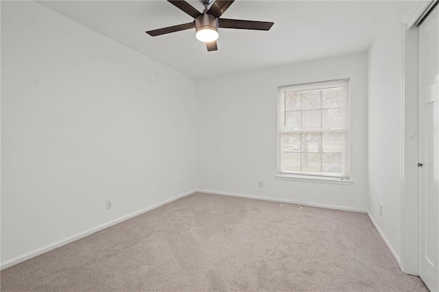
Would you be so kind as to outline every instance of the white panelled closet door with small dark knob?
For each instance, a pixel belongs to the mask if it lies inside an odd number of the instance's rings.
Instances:
[[[439,291],[439,6],[419,26],[419,276]]]

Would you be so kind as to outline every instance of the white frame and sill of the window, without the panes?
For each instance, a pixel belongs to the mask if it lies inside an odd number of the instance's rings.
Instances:
[[[342,129],[337,130],[316,130],[309,132],[342,132],[344,137],[342,149],[342,174],[317,172],[317,171],[282,171],[283,162],[283,134],[287,132],[300,133],[302,130],[285,131],[283,130],[283,123],[285,119],[284,96],[283,90],[286,88],[294,88],[294,91],[316,90],[322,88],[329,88],[333,86],[342,86],[346,94],[345,110],[346,110],[346,125]],[[327,80],[320,82],[310,82],[306,84],[292,84],[286,86],[278,86],[278,115],[277,115],[277,175],[276,178],[281,180],[300,180],[300,181],[314,181],[314,182],[329,182],[339,184],[351,184],[350,169],[349,169],[349,124],[350,124],[350,79]]]

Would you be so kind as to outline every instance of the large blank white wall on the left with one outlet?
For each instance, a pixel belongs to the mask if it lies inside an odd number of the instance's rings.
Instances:
[[[196,188],[193,80],[38,3],[1,5],[3,267]]]

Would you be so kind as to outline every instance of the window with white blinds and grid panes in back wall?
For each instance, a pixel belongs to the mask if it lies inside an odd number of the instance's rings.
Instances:
[[[349,80],[278,88],[278,176],[349,177]]]

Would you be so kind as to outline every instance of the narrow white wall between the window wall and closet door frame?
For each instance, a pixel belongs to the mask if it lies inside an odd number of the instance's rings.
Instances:
[[[401,252],[402,27],[412,2],[394,2],[368,51],[368,212],[396,259]],[[379,205],[383,215],[379,215]],[[417,234],[412,234],[417,236]]]

